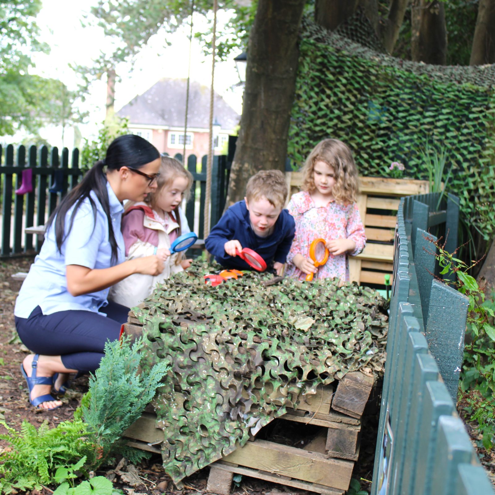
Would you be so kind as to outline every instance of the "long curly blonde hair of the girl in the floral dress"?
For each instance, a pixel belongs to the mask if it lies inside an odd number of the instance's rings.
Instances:
[[[351,150],[338,139],[324,139],[309,153],[302,167],[302,190],[309,194],[316,190],[314,164],[323,161],[334,169],[335,186],[332,195],[338,203],[353,203],[359,192],[357,167]]]

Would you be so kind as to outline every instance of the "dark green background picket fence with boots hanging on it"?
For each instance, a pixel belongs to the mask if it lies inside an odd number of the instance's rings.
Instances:
[[[35,146],[27,150],[24,146],[19,146],[16,150],[12,145],[4,149],[0,146],[1,258],[34,254],[40,250],[43,239],[36,236],[33,239],[32,234],[24,232],[24,227],[45,225],[60,198],[77,185],[82,176],[77,148],[72,151],[71,157],[69,163],[67,148],[63,148],[59,154],[57,148],[49,151],[46,146],[42,146],[39,150]],[[181,154],[175,155],[175,158],[182,161]],[[201,170],[206,170],[206,156],[202,157],[201,165]],[[24,195],[17,195],[14,191],[20,188],[22,173],[27,169],[32,170],[33,190]],[[202,239],[206,172],[197,172],[198,158],[195,155],[188,157],[188,169],[193,174],[200,191],[199,232],[197,234]],[[214,156],[211,181],[211,226],[215,225],[222,215],[229,173],[230,163],[227,162],[227,157]],[[192,188],[192,198],[186,205],[186,216],[191,229],[194,226],[195,200],[198,199],[195,186]],[[56,189],[58,192],[50,193],[49,189]]]

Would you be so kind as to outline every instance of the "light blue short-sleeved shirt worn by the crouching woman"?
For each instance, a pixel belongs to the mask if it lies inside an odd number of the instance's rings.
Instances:
[[[82,309],[99,312],[106,306],[109,289],[71,296],[67,290],[65,267],[81,265],[91,269],[109,268],[125,260],[124,239],[120,231],[120,220],[124,208],[115,196],[110,184],[106,183],[113,234],[117,241],[117,259],[112,259],[112,251],[108,238],[108,219],[96,194],[91,192],[95,201],[96,222],[91,203],[86,198],[79,206],[72,230],[67,236],[70,225],[71,208],[65,217],[65,235],[61,252],[55,241],[55,222],[52,222],[45,234],[45,242],[40,254],[31,265],[28,276],[22,284],[19,296],[15,301],[14,315],[28,318],[36,306],[40,306],[43,314],[52,314],[69,309]],[[103,316],[104,313],[99,313]]]

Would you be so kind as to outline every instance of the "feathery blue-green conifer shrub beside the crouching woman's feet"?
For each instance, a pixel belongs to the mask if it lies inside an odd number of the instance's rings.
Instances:
[[[142,349],[142,339],[132,345],[125,336],[121,342],[107,342],[99,368],[90,378],[89,403],[82,406],[82,413],[88,431],[95,437],[99,464],[125,448],[122,434],[141,416],[169,369],[160,362],[141,373]]]

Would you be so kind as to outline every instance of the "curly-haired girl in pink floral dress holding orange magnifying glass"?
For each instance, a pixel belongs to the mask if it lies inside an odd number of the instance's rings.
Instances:
[[[302,174],[302,191],[287,207],[296,221],[296,237],[286,273],[300,280],[313,273],[315,279],[348,281],[347,256],[359,254],[366,244],[356,205],[358,179],[352,153],[342,141],[325,139],[309,153]],[[309,247],[319,238],[325,239],[330,255],[325,265],[316,268]]]

